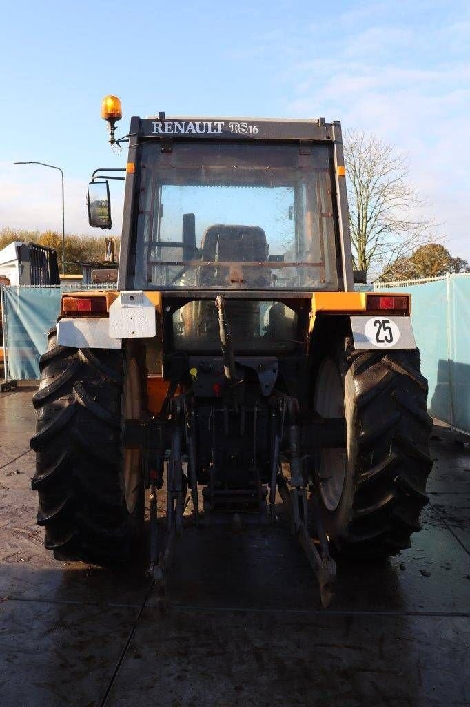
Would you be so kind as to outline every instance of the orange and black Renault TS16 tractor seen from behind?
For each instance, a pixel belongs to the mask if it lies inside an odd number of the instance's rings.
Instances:
[[[118,98],[102,117],[128,160],[95,170],[88,216],[111,228],[125,181],[119,270],[64,293],[40,361],[45,546],[102,566],[147,548],[164,583],[188,522],[284,504],[326,606],[339,557],[410,547],[432,464],[410,296],[355,291],[341,125],[159,112],[116,139]]]

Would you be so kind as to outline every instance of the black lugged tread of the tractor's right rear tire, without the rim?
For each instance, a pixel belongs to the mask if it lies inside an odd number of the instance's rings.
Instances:
[[[361,558],[398,554],[410,547],[428,503],[428,384],[417,350],[359,353],[350,337],[342,350],[354,380],[357,452],[349,522],[335,546]]]

